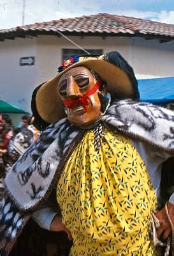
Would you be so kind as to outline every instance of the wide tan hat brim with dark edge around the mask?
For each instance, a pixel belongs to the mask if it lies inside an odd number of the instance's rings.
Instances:
[[[109,52],[101,56],[80,56],[78,62],[42,84],[34,95],[36,111],[48,124],[55,123],[66,116],[61,107],[57,84],[62,74],[79,66],[94,70],[106,82],[108,92],[118,93],[123,99],[137,99],[139,97],[133,69],[119,52]]]

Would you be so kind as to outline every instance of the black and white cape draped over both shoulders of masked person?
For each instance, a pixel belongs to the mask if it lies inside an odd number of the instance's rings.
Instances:
[[[120,100],[110,106],[101,122],[174,156],[173,111],[144,102]],[[13,165],[5,180],[0,255],[8,255],[32,212],[47,201],[84,133],[64,118],[49,125]]]

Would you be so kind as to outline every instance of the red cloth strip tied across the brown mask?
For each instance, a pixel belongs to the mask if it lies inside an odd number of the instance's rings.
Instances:
[[[63,100],[65,106],[67,108],[75,108],[76,106],[78,106],[78,104],[81,104],[83,106],[83,109],[85,109],[85,112],[86,112],[87,105],[89,104],[89,96],[92,95],[93,93],[95,93],[99,89],[100,85],[101,85],[101,79],[98,79],[98,81],[96,81],[96,83],[91,88],[91,90],[89,90],[89,92],[86,92],[85,94],[83,94],[82,97],[79,97],[76,100],[68,100],[68,99]]]

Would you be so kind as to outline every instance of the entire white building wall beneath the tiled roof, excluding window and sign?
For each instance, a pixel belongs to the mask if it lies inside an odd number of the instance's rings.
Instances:
[[[174,47],[143,38],[98,36],[69,36],[85,49],[119,51],[132,65],[137,78],[174,76]],[[58,36],[15,38],[0,42],[0,97],[31,111],[33,89],[57,74],[61,65],[62,48],[76,49],[68,40]],[[20,66],[20,57],[35,56],[35,65]]]

